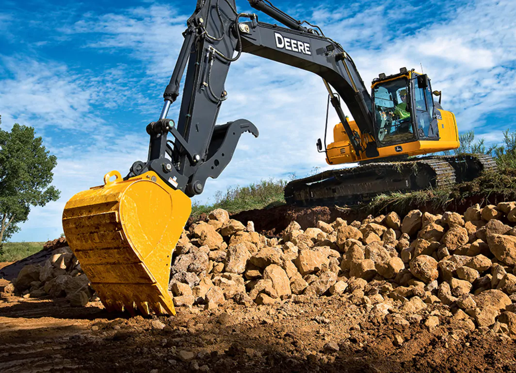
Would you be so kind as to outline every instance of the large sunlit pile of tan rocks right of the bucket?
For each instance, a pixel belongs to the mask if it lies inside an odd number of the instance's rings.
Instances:
[[[464,215],[395,212],[363,221],[292,222],[266,238],[214,210],[184,231],[170,290],[176,306],[270,304],[344,296],[378,315],[448,307],[465,328],[516,334],[516,202],[475,205]],[[450,315],[451,315],[450,314]],[[434,316],[431,316],[434,317]],[[474,321],[474,323],[473,323]],[[429,328],[438,319],[428,318]]]

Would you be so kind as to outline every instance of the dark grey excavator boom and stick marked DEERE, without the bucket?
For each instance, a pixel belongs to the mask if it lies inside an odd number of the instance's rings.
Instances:
[[[230,65],[241,53],[321,76],[328,90],[331,92],[332,86],[346,103],[361,133],[374,138],[370,96],[342,46],[313,28],[303,27],[301,22],[263,0],[250,0],[250,5],[289,28],[259,22],[256,14],[238,13],[234,0],[199,1],[188,19],[183,46],[165,89],[160,118],[147,127],[151,136],[149,159],[133,164],[128,177],[152,170],[171,188],[191,197],[202,193],[206,179],[218,177],[228,165],[242,133],[248,131],[258,136],[256,127],[246,119],[216,125],[220,106],[230,95],[224,88]],[[181,110],[175,125],[166,117],[170,105],[179,97],[185,68]],[[252,77],[248,77],[246,86],[252,88],[252,84]],[[363,151],[358,136],[347,123],[340,100],[331,94],[354,150]]]

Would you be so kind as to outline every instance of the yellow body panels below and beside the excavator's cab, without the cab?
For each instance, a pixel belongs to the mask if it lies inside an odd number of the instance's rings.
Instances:
[[[338,123],[333,128],[334,142],[327,146],[328,158],[326,159],[326,162],[328,164],[354,163],[376,158],[400,156],[403,154],[407,154],[408,156],[418,156],[421,154],[457,149],[460,143],[455,115],[445,110],[440,110],[440,113],[441,119],[438,119],[439,140],[412,141],[410,143],[379,147],[379,156],[374,158],[367,158],[365,152],[362,152],[357,156],[357,153],[354,152],[353,147],[349,142],[349,137],[344,130],[344,126],[342,123]],[[374,141],[369,138],[368,135],[361,135],[360,130],[354,121],[349,121],[349,126],[353,131],[356,131],[360,135],[363,147],[365,147],[369,141]],[[402,151],[396,151],[398,146],[401,146]]]

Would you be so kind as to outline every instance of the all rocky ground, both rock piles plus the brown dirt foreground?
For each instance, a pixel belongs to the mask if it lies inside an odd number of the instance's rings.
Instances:
[[[56,369],[56,354],[59,369],[79,371],[516,370],[516,202],[315,225],[293,221],[267,237],[224,210],[191,224],[171,267],[175,317],[105,313],[56,241],[46,261],[4,284],[0,362],[5,371],[24,356]],[[46,352],[33,356],[28,343]]]

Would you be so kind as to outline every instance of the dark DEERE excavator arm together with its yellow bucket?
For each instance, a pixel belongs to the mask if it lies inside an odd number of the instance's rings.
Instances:
[[[229,97],[224,84],[230,65],[241,53],[321,76],[354,150],[364,149],[346,120],[341,99],[361,133],[374,138],[370,96],[342,46],[268,2],[249,3],[286,27],[239,13],[234,0],[198,0],[162,112],[147,126],[147,161],[135,162],[124,178],[116,171],[108,173],[104,185],[77,193],[65,206],[62,222],[68,244],[108,310],[175,313],[168,291],[171,251],[190,215],[188,197],[202,193],[208,177],[220,175],[241,134],[258,136],[246,119],[216,125],[220,105]],[[175,123],[167,114],[180,95],[185,69]],[[252,89],[252,76],[245,82]]]

